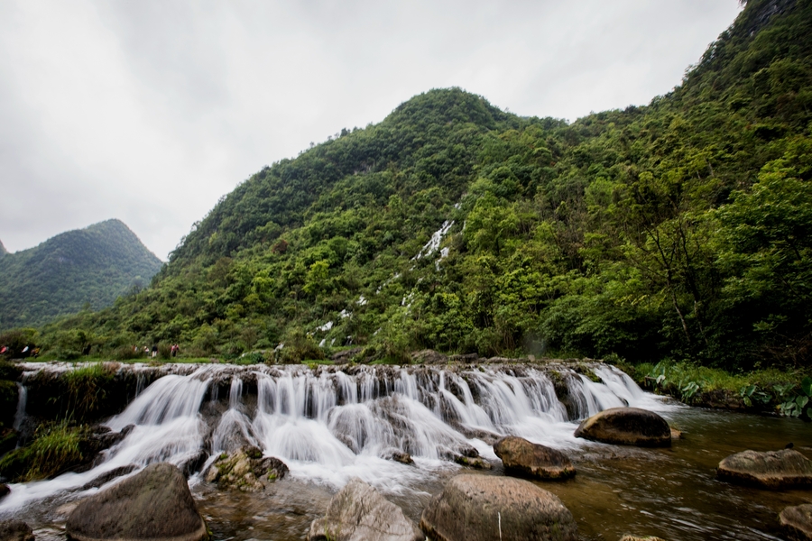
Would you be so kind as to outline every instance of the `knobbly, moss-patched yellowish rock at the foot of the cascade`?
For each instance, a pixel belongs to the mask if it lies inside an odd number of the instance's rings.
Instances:
[[[259,492],[264,490],[265,482],[281,479],[287,473],[288,466],[278,458],[263,457],[259,448],[246,446],[232,454],[221,454],[204,479],[217,482],[221,489]]]

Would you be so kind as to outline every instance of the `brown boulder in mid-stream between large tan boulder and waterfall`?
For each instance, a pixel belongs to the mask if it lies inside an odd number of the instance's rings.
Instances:
[[[502,459],[505,472],[537,479],[568,479],[576,474],[566,454],[524,438],[505,436],[494,444],[494,453]]]

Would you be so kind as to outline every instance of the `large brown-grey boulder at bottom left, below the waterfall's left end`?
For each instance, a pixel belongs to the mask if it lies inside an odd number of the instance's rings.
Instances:
[[[155,463],[81,500],[66,524],[69,539],[208,539],[189,485],[170,463]]]

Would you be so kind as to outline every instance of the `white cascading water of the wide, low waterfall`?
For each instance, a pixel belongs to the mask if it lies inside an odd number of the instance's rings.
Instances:
[[[154,381],[106,422],[114,431],[134,428],[106,451],[102,463],[89,472],[11,485],[11,494],[0,502],[0,518],[54,495],[69,494],[72,500],[83,493],[82,485],[120,466],[181,465],[201,450],[215,455],[246,443],[281,458],[296,479],[338,488],[357,476],[384,491],[402,493],[438,470],[459,468],[453,456],[466,448],[498,460],[490,445],[466,434],[510,434],[577,448],[600,445],[577,440],[572,433],[578,419],[601,409],[673,408],[621,371],[603,365],[594,370],[603,382],[556,367],[567,381],[572,418],[547,373],[524,367],[357,367],[346,373],[334,367],[311,371],[302,366],[210,365],[189,375],[171,374]],[[228,407],[213,415],[216,382],[229,376]],[[255,404],[254,396],[249,399],[245,393],[246,382],[255,384]],[[211,402],[201,408],[207,393]],[[411,454],[417,467],[387,460],[393,451]]]

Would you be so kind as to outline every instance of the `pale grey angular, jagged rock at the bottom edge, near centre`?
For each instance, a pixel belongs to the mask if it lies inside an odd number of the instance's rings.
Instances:
[[[360,479],[353,479],[310,524],[308,541],[422,541],[417,525],[401,508]]]

